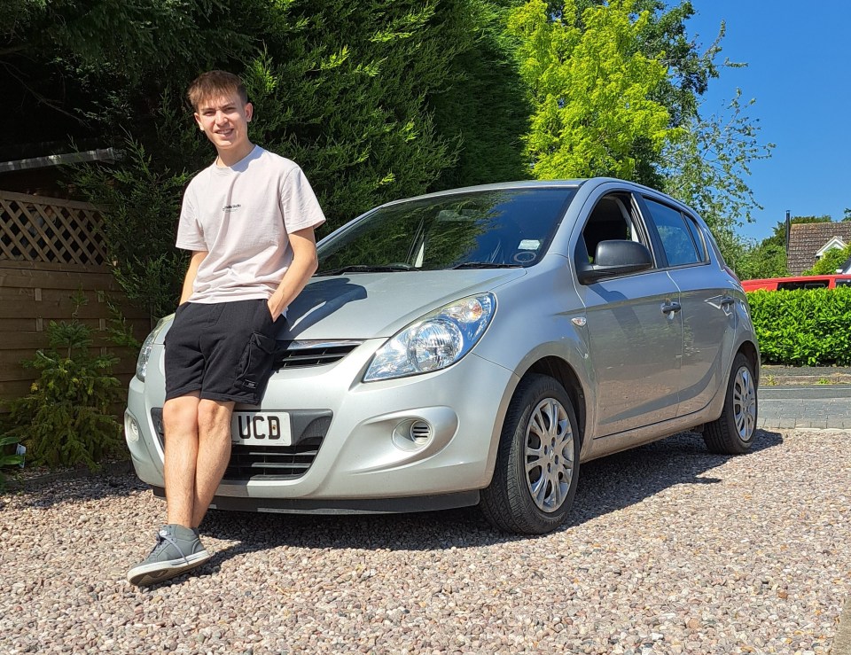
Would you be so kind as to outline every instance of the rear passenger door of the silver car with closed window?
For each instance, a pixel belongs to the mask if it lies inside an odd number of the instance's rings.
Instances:
[[[665,253],[667,274],[680,294],[683,355],[677,415],[684,416],[706,407],[726,382],[723,355],[731,347],[733,296],[729,277],[711,261],[697,222],[660,200],[640,200],[652,216],[649,223]]]

